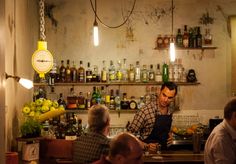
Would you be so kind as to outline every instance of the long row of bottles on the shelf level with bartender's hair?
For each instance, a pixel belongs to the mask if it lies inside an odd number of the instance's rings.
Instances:
[[[182,60],[176,60],[177,63],[170,63],[173,65],[173,69],[179,67],[183,69]],[[165,66],[166,63],[160,64],[150,64],[140,65],[139,61],[136,64],[130,64],[129,68],[126,66],[126,59],[117,61],[117,65],[111,60],[110,65],[107,68],[106,61],[103,61],[103,66],[99,71],[97,65],[91,68],[90,62],[87,63],[87,68],[83,66],[83,61],[80,61],[79,68],[76,68],[74,62],[73,66],[70,66],[70,60],[67,60],[67,66],[64,66],[64,61],[61,61],[61,66],[58,68],[56,65],[52,68],[49,74],[46,76],[46,80],[49,85],[54,85],[57,82],[61,83],[91,83],[91,82],[163,82],[166,81],[163,76],[165,76]],[[178,66],[176,66],[178,65]],[[170,66],[171,67],[171,66]],[[171,70],[171,69],[170,69]],[[181,70],[179,72],[183,72]],[[170,72],[170,75],[172,73]],[[174,71],[174,76],[176,71]],[[179,75],[178,75],[179,76]],[[164,78],[164,79],[163,79]],[[169,78],[173,81],[182,81],[180,78]],[[35,82],[39,82],[39,79],[35,79]]]

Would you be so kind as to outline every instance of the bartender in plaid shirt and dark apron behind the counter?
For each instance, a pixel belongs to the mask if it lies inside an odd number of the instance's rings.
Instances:
[[[144,149],[156,152],[161,146],[161,150],[164,150],[172,141],[170,104],[174,101],[176,94],[175,83],[163,83],[156,101],[147,103],[134,115],[133,121],[127,126],[129,132],[139,137]]]

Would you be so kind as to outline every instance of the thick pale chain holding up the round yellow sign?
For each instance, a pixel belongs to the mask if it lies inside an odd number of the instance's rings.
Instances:
[[[45,35],[45,20],[44,20],[44,0],[39,0],[39,38],[41,41],[46,40]]]

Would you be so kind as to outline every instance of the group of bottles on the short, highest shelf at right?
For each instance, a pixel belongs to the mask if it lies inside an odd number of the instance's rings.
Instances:
[[[175,36],[158,35],[156,46],[157,48],[169,47],[170,38],[174,37],[174,41],[177,47],[184,48],[201,48],[202,46],[210,46],[212,44],[212,35],[210,29],[206,29],[205,34],[201,34],[201,29],[197,27],[189,27],[184,25],[183,32],[181,28],[178,28]]]

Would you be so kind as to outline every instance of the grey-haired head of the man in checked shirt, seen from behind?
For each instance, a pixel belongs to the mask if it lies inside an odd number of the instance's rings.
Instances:
[[[92,106],[88,111],[88,125],[90,131],[104,133],[104,130],[110,126],[108,108],[104,105]]]

